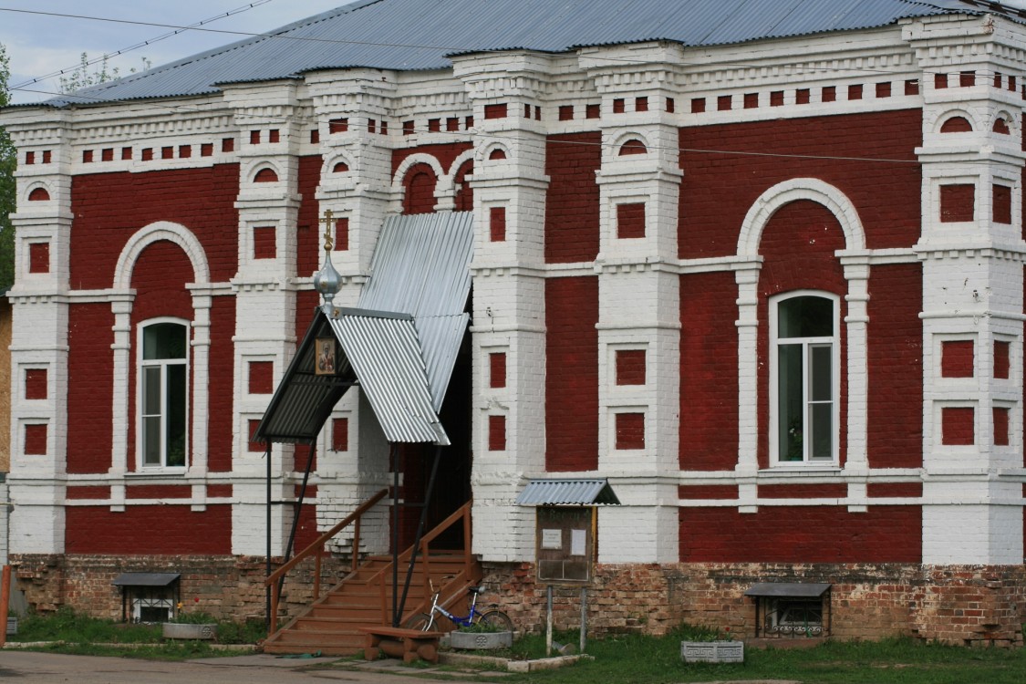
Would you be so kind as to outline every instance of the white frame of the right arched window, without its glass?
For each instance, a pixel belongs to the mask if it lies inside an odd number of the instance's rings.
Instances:
[[[786,345],[801,345],[802,347],[802,378],[804,378],[804,391],[802,405],[805,407],[805,421],[808,421],[808,407],[812,401],[808,399],[808,359],[810,350],[816,346],[831,345],[830,355],[830,401],[832,403],[831,425],[833,436],[831,439],[831,454],[829,458],[811,458],[808,455],[808,440],[802,441],[801,460],[785,460],[781,458],[780,430],[778,427],[781,420],[780,407],[780,368],[779,354],[781,340],[779,331],[779,311],[784,301],[801,296],[814,296],[830,300],[833,312],[833,335],[830,337],[788,337]],[[835,467],[840,454],[840,297],[830,292],[821,290],[794,290],[784,294],[778,294],[770,298],[770,460],[774,467],[797,467],[808,468],[817,466]]]

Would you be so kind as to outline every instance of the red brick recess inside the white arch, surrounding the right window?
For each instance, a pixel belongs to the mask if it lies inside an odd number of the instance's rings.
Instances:
[[[847,307],[843,296],[847,282],[834,251],[844,248],[840,225],[826,207],[816,202],[798,200],[782,206],[762,231],[759,253],[764,260],[759,272],[758,386],[770,387],[770,306],[768,297],[797,289],[815,289],[839,295],[841,340],[840,356],[840,461],[846,453],[847,386],[844,316]],[[737,314],[735,314],[737,317]],[[686,324],[686,320],[682,321]],[[762,468],[770,466],[770,393],[758,393],[759,438],[758,455]]]

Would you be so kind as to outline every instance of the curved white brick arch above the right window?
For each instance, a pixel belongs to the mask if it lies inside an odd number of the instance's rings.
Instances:
[[[844,232],[845,249],[865,249],[866,233],[862,220],[844,193],[818,178],[792,178],[766,190],[748,209],[738,237],[738,256],[757,257],[765,225],[778,209],[797,200],[822,204],[837,218]]]

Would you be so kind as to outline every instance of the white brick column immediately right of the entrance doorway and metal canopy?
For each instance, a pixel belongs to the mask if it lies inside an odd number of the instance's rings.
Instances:
[[[514,506],[545,475],[546,130],[522,115],[544,96],[541,54],[456,59],[474,107],[474,553],[535,555],[534,510]],[[502,116],[488,114],[500,112]]]

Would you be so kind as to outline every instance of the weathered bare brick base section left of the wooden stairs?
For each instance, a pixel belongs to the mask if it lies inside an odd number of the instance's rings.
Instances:
[[[14,555],[16,588],[38,611],[70,606],[97,617],[121,618],[121,590],[113,586],[122,572],[179,572],[182,599],[190,609],[214,617],[243,621],[265,618],[267,576],[261,556],[49,556]],[[277,568],[281,559],[273,559]],[[330,559],[322,560],[321,591],[339,577]],[[346,563],[348,568],[348,562]],[[313,561],[293,569],[282,590],[279,620],[309,605],[313,595]],[[195,601],[195,599],[199,601]]]

